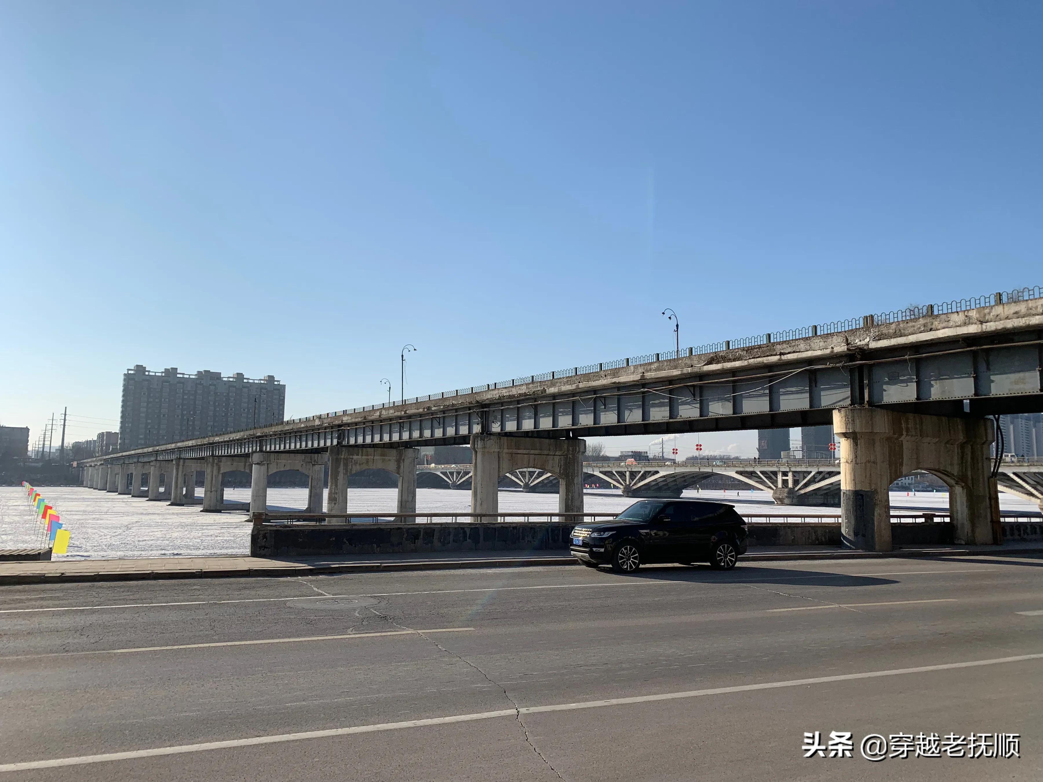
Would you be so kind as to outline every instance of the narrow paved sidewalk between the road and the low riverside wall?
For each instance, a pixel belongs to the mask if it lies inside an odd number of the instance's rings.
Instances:
[[[1001,546],[932,546],[902,548],[888,554],[827,546],[759,546],[739,558],[747,562],[798,560],[884,559],[907,557],[1024,556],[1043,554],[1043,543]],[[377,570],[436,570],[464,567],[532,567],[576,565],[561,552],[468,552],[447,554],[388,554],[384,556],[308,557],[163,557],[154,559],[56,560],[0,563],[0,585],[54,584],[84,581],[146,581],[156,579],[219,579],[244,577],[321,576]]]

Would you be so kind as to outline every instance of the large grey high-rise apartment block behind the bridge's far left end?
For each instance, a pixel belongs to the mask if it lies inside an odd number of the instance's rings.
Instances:
[[[120,450],[278,423],[285,412],[286,386],[274,375],[149,372],[138,364],[123,375]]]

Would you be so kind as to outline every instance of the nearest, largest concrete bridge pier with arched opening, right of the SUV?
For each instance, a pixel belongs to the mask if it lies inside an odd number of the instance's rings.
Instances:
[[[993,540],[989,490],[991,420],[842,408],[833,411],[833,430],[841,440],[841,534],[845,545],[891,551],[888,488],[918,469],[948,485],[955,542],[997,542]]]

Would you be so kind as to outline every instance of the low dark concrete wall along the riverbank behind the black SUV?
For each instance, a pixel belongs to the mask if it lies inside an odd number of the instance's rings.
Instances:
[[[250,555],[322,557],[343,554],[566,551],[572,529],[573,524],[562,523],[261,526],[253,528]],[[750,524],[748,529],[750,545],[841,544],[839,523]],[[1043,540],[1043,523],[1004,523],[1003,534],[1009,540]],[[1026,535],[1037,537],[1024,537]],[[952,523],[893,524],[892,536],[895,545],[899,546],[951,543]]]

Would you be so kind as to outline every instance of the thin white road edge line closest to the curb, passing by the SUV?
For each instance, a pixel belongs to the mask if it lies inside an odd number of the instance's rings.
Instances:
[[[785,572],[783,568],[778,568],[779,572]],[[950,572],[987,572],[997,570],[996,567],[975,567],[968,569],[951,570],[896,570],[894,572],[852,572],[852,573],[819,573],[816,576],[793,576],[787,577],[792,581],[812,581],[816,579],[849,579],[855,577],[872,576],[936,576],[938,573]],[[413,594],[459,594],[463,592],[507,592],[519,589],[580,589],[585,587],[613,587],[613,586],[652,586],[654,584],[747,584],[750,582],[772,582],[777,579],[743,579],[742,581],[712,581],[694,582],[678,581],[674,579],[641,579],[633,581],[609,581],[604,583],[590,584],[541,584],[537,586],[524,587],[478,587],[474,589],[431,589],[420,592],[365,592],[359,594],[309,594],[304,597],[242,597],[238,600],[225,601],[181,601],[178,603],[121,603],[111,606],[51,606],[48,608],[7,608],[0,609],[0,614],[29,614],[44,611],[101,611],[117,608],[166,608],[168,606],[217,606],[233,603],[286,603],[287,601],[316,601],[325,597],[406,597]],[[313,587],[314,588],[314,587]]]

